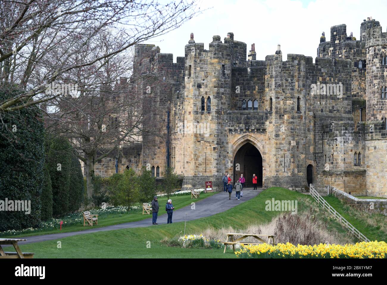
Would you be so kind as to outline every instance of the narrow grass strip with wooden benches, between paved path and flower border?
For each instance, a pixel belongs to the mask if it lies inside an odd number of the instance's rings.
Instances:
[[[175,197],[170,197],[172,200],[173,206],[175,206],[175,209],[180,209],[182,207],[188,206],[191,204],[192,201],[199,201],[202,199],[205,199],[207,197],[210,197],[211,195],[214,195],[214,193],[200,193],[200,198],[198,199],[191,199],[191,195],[180,195]],[[161,197],[158,199],[159,201],[159,207],[161,214],[164,214],[164,206],[167,203],[167,197]],[[81,215],[81,214],[80,214]],[[122,223],[128,223],[128,222],[135,222],[140,221],[142,219],[152,218],[152,215],[143,215],[142,210],[139,211],[131,211],[128,214],[109,214],[108,216],[104,216],[103,218],[98,219],[98,226],[94,225],[92,228],[100,228],[103,226],[110,226],[110,225],[118,225]],[[8,238],[15,238],[15,237],[30,237],[34,235],[47,235],[52,233],[65,233],[70,231],[82,231],[82,230],[88,230],[91,226],[83,226],[83,220],[82,223],[75,224],[75,225],[68,225],[68,226],[62,226],[62,230],[47,230],[47,231],[37,231],[34,233],[24,233],[21,235],[12,235],[8,236]],[[6,236],[3,236],[2,238],[7,238]]]

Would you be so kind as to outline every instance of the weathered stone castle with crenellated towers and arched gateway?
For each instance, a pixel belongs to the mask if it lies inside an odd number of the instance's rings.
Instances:
[[[263,188],[304,190],[332,185],[354,195],[387,197],[387,33],[369,17],[360,39],[346,25],[320,38],[317,57],[288,54],[278,45],[257,60],[255,45],[213,36],[209,50],[191,34],[185,56],[154,45],[135,46],[134,73],[163,81],[152,93],[164,106],[167,141],[137,143],[122,150],[118,169],[150,166],[163,176],[167,166],[183,176],[183,189],[223,188],[228,171],[235,181],[252,174]],[[96,164],[110,176],[114,159]]]

